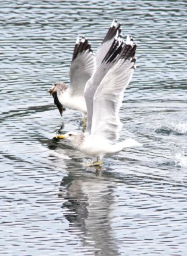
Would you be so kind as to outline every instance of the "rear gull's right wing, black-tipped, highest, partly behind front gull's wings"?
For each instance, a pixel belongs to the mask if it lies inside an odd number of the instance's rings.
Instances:
[[[114,41],[114,38],[121,36],[121,29],[120,29],[121,24],[117,24],[117,20],[113,20],[112,24],[110,25],[110,28],[102,41],[102,44],[96,51],[96,63],[97,67],[102,63],[104,57],[108,53],[112,42]]]

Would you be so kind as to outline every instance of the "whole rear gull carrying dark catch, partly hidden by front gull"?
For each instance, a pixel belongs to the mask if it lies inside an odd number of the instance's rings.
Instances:
[[[66,86],[64,82],[56,82],[48,91],[52,94],[54,104],[59,108],[61,115],[63,115],[65,108],[77,110],[82,114],[84,126],[87,115],[84,98],[85,84],[102,63],[114,38],[121,36],[120,32],[120,24],[117,24],[117,20],[113,20],[102,44],[96,51],[96,55],[94,55],[87,39],[77,37],[69,70],[70,86]]]

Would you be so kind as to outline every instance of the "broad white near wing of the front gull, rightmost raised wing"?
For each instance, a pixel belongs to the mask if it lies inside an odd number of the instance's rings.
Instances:
[[[136,44],[127,37],[114,65],[105,75],[94,95],[91,135],[101,135],[110,141],[118,139],[122,123],[118,112],[126,86],[135,69]]]

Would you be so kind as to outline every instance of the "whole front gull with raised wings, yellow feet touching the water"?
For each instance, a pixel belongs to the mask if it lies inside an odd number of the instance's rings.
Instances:
[[[84,154],[96,157],[96,161],[87,164],[88,166],[101,165],[102,158],[112,156],[124,148],[140,146],[140,143],[131,138],[117,141],[122,129],[118,113],[124,90],[135,70],[136,49],[137,44],[134,44],[130,36],[127,36],[126,42],[114,39],[106,57],[85,86],[85,133],[70,131],[56,136],[57,139],[71,141],[71,145]]]

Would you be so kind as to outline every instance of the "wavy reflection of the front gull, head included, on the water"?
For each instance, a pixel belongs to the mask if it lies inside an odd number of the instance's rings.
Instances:
[[[96,254],[119,255],[111,218],[116,201],[114,183],[103,177],[101,168],[85,167],[80,152],[59,141],[52,141],[51,146],[59,158],[73,156],[63,159],[67,175],[58,194],[63,200],[61,207],[69,222],[69,232],[77,234],[82,246]]]

